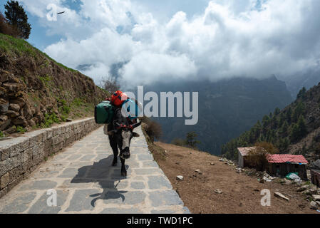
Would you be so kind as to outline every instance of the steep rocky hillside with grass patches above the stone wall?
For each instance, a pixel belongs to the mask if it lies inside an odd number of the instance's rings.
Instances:
[[[88,76],[0,33],[1,135],[93,116],[94,106],[106,96]]]

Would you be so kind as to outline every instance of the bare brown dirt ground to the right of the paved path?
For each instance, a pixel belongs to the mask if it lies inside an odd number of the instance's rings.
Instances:
[[[165,175],[177,190],[182,201],[195,214],[301,214],[316,213],[310,209],[305,196],[296,192],[297,185],[282,185],[279,182],[259,183],[257,177],[249,177],[235,172],[235,167],[219,161],[219,157],[186,147],[155,142],[166,150],[165,158],[155,155]],[[210,163],[215,165],[210,165]],[[202,175],[195,172],[200,169]],[[176,180],[182,175],[182,181]],[[222,190],[222,194],[215,190]],[[260,203],[260,191],[271,191],[271,206],[263,207]],[[274,197],[280,192],[289,198]]]

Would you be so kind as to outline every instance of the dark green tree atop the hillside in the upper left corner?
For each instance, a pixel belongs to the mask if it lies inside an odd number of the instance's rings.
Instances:
[[[18,1],[7,1],[4,5],[6,11],[6,19],[8,23],[19,31],[19,37],[28,39],[31,33],[31,25],[28,23],[28,16],[24,11],[24,8],[19,5]]]

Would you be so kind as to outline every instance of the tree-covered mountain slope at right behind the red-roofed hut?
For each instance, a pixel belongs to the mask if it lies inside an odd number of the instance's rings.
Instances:
[[[264,115],[251,129],[222,146],[225,157],[236,158],[237,147],[257,141],[272,142],[281,153],[320,157],[320,83],[310,90],[302,88],[296,100],[283,110]]]

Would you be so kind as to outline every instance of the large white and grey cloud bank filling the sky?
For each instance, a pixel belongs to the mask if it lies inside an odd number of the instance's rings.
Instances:
[[[44,19],[45,4],[37,12],[35,2],[24,4]],[[81,2],[57,24],[43,21],[63,36],[45,51],[69,67],[89,64],[83,73],[96,83],[117,63],[124,63],[121,80],[137,84],[285,78],[319,63],[319,0],[215,0],[200,14],[177,11],[168,20],[155,19],[138,1]],[[56,4],[65,9],[62,0]]]

